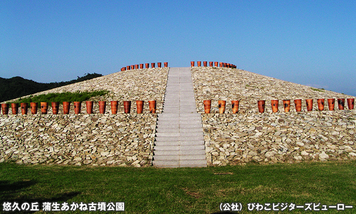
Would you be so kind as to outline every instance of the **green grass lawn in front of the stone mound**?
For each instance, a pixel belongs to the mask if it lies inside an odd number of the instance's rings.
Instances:
[[[125,211],[121,213],[215,213],[220,212],[222,202],[242,203],[243,211],[239,213],[277,213],[248,211],[247,204],[314,202],[353,206],[345,211],[329,209],[320,213],[356,213],[356,162],[174,169],[3,163],[0,164],[3,213],[4,201],[125,202]],[[68,213],[85,212],[88,211]],[[287,209],[283,213],[311,211]]]

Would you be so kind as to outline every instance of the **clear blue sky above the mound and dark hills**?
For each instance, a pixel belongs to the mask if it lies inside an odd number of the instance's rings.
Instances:
[[[356,1],[0,1],[0,77],[219,61],[356,96]]]

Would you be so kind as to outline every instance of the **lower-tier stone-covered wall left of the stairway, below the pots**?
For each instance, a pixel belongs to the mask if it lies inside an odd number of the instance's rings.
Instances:
[[[151,166],[156,114],[0,117],[0,163]]]

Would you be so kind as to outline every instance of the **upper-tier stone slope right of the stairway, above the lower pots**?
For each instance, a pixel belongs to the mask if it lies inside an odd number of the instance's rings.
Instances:
[[[203,100],[212,100],[212,108],[218,112],[218,100],[226,100],[225,113],[231,113],[231,100],[240,100],[239,113],[258,112],[257,100],[265,100],[265,111],[272,112],[271,100],[279,100],[279,111],[284,112],[282,100],[290,99],[290,111],[295,112],[294,99],[303,99],[302,111],[306,111],[305,99],[354,98],[332,91],[290,83],[257,73],[233,68],[192,67],[192,77],[197,110],[204,113]],[[312,90],[314,89],[314,90]],[[328,110],[328,105],[325,105]],[[335,106],[337,109],[337,105]]]

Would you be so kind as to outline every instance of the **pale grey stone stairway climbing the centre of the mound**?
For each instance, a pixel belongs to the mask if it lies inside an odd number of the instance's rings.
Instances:
[[[170,68],[157,115],[153,166],[206,167],[201,115],[197,113],[190,68]]]

